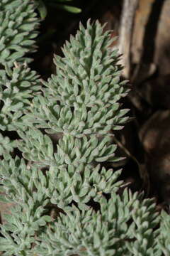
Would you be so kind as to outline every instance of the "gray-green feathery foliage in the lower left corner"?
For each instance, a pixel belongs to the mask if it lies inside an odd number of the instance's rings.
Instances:
[[[7,201],[16,203],[12,215],[6,215],[7,224],[1,227],[0,250],[4,255],[27,255],[40,232],[51,218],[45,215],[44,206],[49,202],[45,190],[45,177],[36,168],[28,170],[25,162],[18,158],[1,162],[1,184]],[[24,254],[23,254],[24,252]],[[33,255],[33,254],[32,254]]]

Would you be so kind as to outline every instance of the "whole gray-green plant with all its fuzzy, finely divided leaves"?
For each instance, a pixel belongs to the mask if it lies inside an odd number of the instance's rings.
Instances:
[[[8,17],[27,3],[38,23],[33,1],[1,3]],[[29,24],[24,31],[35,34]],[[159,214],[144,193],[132,193],[120,181],[121,170],[103,165],[120,160],[114,130],[128,120],[120,104],[128,87],[111,43],[98,21],[80,24],[46,82],[28,68],[25,55],[10,53],[1,61],[0,199],[13,203],[1,225],[2,255],[170,255],[169,214]],[[33,44],[30,39],[27,49]],[[17,132],[18,139],[3,131]]]

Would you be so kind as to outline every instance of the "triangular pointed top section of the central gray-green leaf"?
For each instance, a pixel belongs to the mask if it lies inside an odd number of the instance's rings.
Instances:
[[[88,23],[86,30],[80,26],[65,44],[64,58],[55,56],[57,75],[44,82],[43,105],[42,96],[34,99],[26,124],[78,138],[121,129],[128,110],[120,110],[118,100],[128,89],[120,82],[118,53],[108,48],[111,41],[98,22]]]

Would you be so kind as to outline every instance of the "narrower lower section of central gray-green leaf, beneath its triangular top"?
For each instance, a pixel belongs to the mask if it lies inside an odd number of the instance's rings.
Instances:
[[[98,143],[96,137],[91,139],[74,139],[72,136],[63,137],[54,152],[51,139],[36,129],[18,132],[23,142],[18,142],[18,148],[23,157],[34,161],[35,166],[48,167],[47,179],[51,203],[65,209],[75,201],[80,208],[86,208],[91,198],[100,192],[110,193],[121,182],[115,183],[120,171],[101,169],[100,165],[93,166],[91,161],[106,161],[114,159],[115,145],[106,147],[109,137]],[[104,146],[105,145],[105,146]],[[101,151],[101,152],[100,152]],[[107,154],[106,155],[106,151]],[[103,155],[104,156],[103,156]],[[98,157],[95,157],[98,156]],[[101,157],[100,157],[101,156]]]

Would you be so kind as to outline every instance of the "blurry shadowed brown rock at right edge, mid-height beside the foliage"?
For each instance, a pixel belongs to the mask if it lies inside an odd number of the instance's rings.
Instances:
[[[152,186],[170,203],[170,110],[157,111],[140,129]]]

